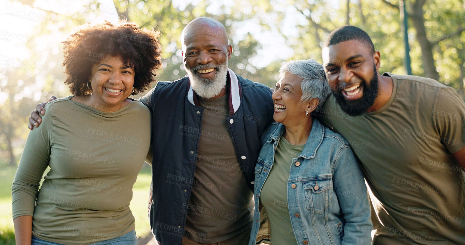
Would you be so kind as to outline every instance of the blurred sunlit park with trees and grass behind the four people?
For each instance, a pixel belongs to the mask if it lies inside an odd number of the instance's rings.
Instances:
[[[436,79],[464,98],[465,3],[405,0],[410,63],[405,62],[401,0],[1,0],[0,5],[0,244],[14,244],[11,184],[35,105],[71,95],[64,85],[62,41],[83,23],[126,18],[161,32],[163,69],[157,80],[185,76],[179,35],[200,16],[226,27],[229,68],[274,86],[289,60],[321,60],[328,34],[344,25],[365,30],[381,53],[380,72]],[[155,86],[153,84],[152,86]],[[141,94],[140,94],[141,95]],[[134,96],[133,98],[138,98]],[[46,171],[47,172],[47,171]],[[131,210],[138,236],[149,236],[150,166],[134,185]]]

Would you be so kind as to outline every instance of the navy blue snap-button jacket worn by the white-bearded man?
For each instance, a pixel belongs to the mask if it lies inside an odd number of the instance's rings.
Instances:
[[[231,139],[253,192],[260,137],[273,121],[272,92],[228,69]],[[162,245],[180,245],[193,186],[204,108],[197,103],[189,78],[159,82],[140,99],[153,113],[150,226]]]

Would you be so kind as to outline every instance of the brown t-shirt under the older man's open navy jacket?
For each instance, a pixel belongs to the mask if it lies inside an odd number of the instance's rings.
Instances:
[[[228,99],[198,97],[205,110],[184,235],[199,243],[217,243],[252,226],[253,193],[227,125]]]

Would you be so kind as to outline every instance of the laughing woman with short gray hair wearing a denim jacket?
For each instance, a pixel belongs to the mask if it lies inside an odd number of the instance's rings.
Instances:
[[[323,66],[291,61],[279,76],[275,122],[255,167],[249,245],[370,245],[370,203],[355,155],[312,116],[330,94]]]

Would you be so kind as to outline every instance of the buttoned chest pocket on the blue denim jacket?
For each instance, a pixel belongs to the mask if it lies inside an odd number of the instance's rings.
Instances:
[[[330,203],[329,192],[332,191],[332,179],[316,179],[303,182],[305,205],[308,210],[316,213],[324,212]]]

